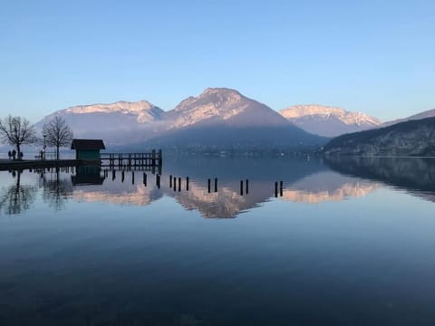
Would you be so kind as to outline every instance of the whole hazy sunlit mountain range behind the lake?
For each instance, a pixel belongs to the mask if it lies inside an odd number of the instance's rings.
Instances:
[[[58,110],[76,138],[104,139],[109,147],[188,146],[214,149],[295,149],[324,145],[328,138],[394,123],[435,116],[429,110],[403,120],[382,123],[361,112],[320,104],[272,110],[265,104],[227,88],[208,88],[190,96],[173,110],[149,101],[74,106]]]

